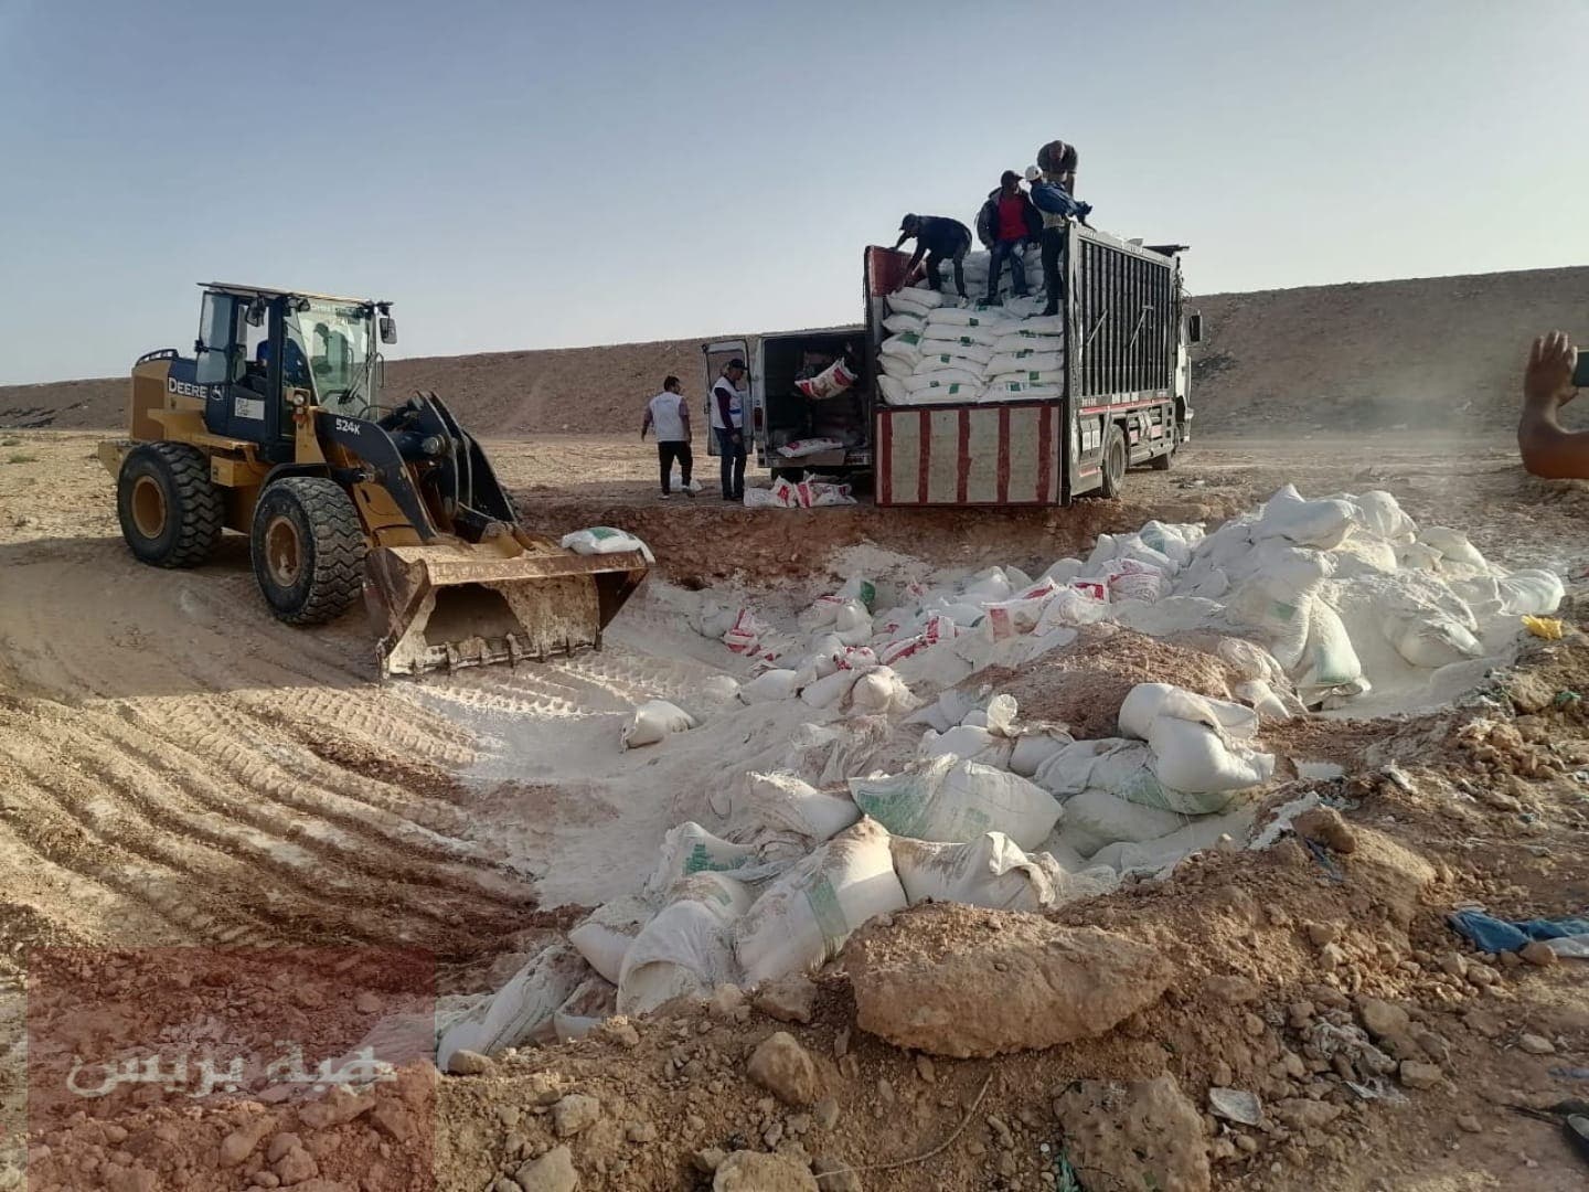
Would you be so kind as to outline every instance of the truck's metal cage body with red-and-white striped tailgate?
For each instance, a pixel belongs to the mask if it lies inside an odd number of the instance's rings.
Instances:
[[[1115,496],[1128,467],[1168,467],[1187,432],[1179,245],[1160,250],[1073,224],[1065,253],[1065,396],[893,407],[876,402],[880,505],[1065,505]],[[907,257],[864,257],[869,375],[887,296]]]

